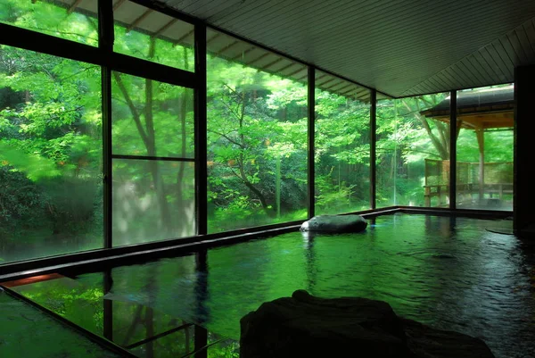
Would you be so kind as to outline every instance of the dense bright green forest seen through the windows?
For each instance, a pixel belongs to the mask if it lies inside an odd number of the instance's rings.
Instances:
[[[45,2],[3,1],[0,21],[97,44],[95,18]],[[193,71],[191,47],[115,32],[115,51]],[[305,219],[307,84],[210,51],[207,67],[210,232]],[[99,66],[0,46],[0,261],[103,246],[101,92]],[[193,89],[113,72],[111,96],[114,245],[194,235]],[[378,207],[424,205],[449,125],[421,112],[446,97],[378,102]],[[316,212],[368,209],[370,104],[317,88],[315,130]],[[512,161],[511,131],[485,140],[490,162]],[[471,131],[457,146],[477,162]]]

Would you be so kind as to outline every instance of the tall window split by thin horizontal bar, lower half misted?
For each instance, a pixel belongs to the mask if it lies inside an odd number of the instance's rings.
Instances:
[[[195,234],[193,90],[112,73],[114,246]]]

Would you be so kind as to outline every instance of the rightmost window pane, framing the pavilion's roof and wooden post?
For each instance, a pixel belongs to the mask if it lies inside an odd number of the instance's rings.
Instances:
[[[513,210],[514,86],[457,92],[457,207]]]

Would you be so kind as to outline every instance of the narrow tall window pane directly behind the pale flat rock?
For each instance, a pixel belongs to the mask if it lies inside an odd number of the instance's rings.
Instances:
[[[370,91],[316,72],[316,214],[370,208]]]

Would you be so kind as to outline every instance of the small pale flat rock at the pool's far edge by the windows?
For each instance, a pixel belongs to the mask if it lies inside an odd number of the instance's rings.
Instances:
[[[317,215],[303,222],[301,231],[314,232],[360,232],[367,227],[367,221],[360,215]]]

